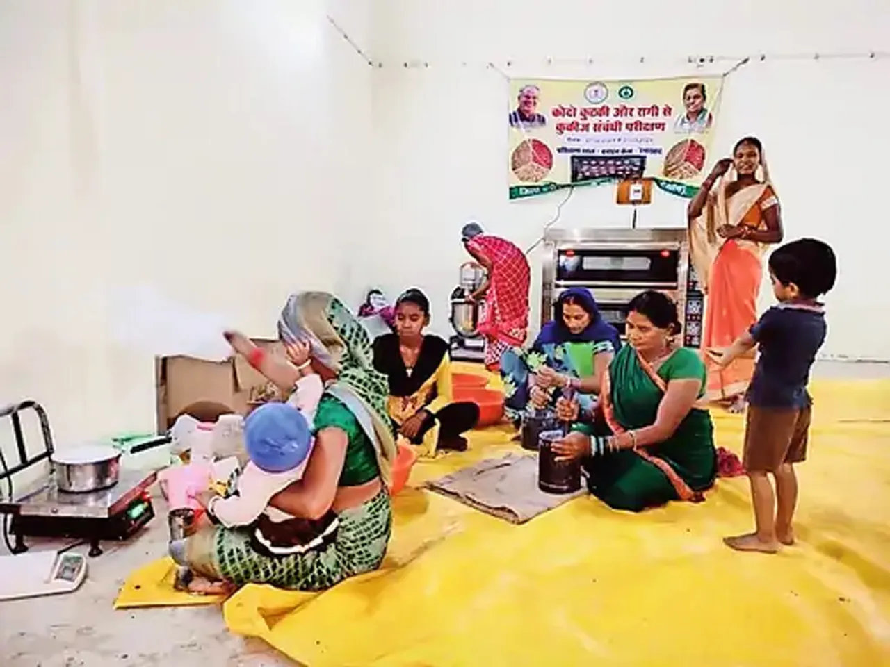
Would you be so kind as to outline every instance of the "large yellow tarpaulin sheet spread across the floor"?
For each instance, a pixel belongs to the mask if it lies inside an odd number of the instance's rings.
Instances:
[[[700,504],[586,497],[523,526],[409,488],[381,571],[320,595],[247,586],[226,622],[312,667],[890,665],[890,382],[813,394],[799,543],[779,555],[721,542],[751,527],[745,478]],[[740,451],[740,417],[715,420]],[[411,484],[503,454],[508,433],[418,462]]]

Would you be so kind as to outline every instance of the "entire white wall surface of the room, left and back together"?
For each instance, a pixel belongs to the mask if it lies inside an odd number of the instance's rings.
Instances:
[[[114,285],[158,285],[256,334],[272,333],[295,288],[354,305],[369,285],[418,285],[449,333],[461,225],[530,245],[565,196],[506,200],[506,81],[486,63],[511,76],[670,76],[690,71],[691,53],[886,44],[886,3],[813,6],[5,0],[0,401],[37,398],[63,443],[153,426],[151,360],[107,333]],[[789,237],[837,248],[835,354],[890,358],[888,74],[881,59],[768,58],[725,92],[717,144],[759,135]],[[641,224],[683,224],[684,201],[656,196]],[[611,188],[578,189],[560,224],[627,224],[612,201]]]

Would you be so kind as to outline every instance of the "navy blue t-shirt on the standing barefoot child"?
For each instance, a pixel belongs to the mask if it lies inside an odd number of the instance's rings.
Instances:
[[[760,356],[748,386],[748,403],[790,409],[809,406],[806,385],[826,331],[821,306],[780,304],[767,310],[750,329]]]

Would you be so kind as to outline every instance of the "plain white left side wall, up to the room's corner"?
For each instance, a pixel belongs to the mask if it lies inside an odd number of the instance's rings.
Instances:
[[[293,289],[349,282],[372,70],[325,14],[367,36],[369,13],[330,5],[0,4],[0,402],[44,403],[63,444],[151,429],[153,361],[108,340],[109,288],[268,335]]]

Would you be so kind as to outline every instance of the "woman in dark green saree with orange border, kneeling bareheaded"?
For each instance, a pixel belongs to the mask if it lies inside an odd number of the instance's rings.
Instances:
[[[676,346],[676,305],[649,291],[629,304],[627,342],[603,376],[593,422],[579,422],[554,444],[581,458],[590,492],[616,510],[641,511],[672,500],[700,502],[717,473],[714,425],[704,401],[707,374],[693,350]],[[578,405],[557,404],[562,419]]]

